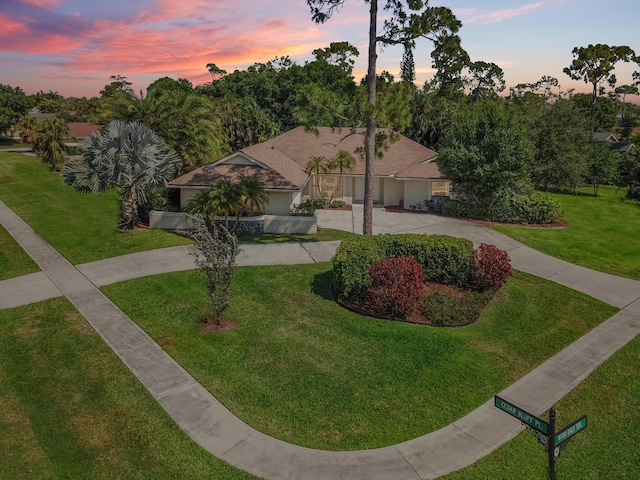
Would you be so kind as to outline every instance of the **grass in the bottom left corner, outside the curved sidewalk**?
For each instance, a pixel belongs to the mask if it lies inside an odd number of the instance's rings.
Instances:
[[[254,478],[196,445],[64,299],[0,310],[0,478]]]

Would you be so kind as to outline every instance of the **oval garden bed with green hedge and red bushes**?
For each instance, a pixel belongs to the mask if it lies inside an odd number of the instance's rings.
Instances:
[[[376,318],[438,326],[475,322],[511,276],[509,256],[447,235],[344,240],[333,260],[334,295]]]

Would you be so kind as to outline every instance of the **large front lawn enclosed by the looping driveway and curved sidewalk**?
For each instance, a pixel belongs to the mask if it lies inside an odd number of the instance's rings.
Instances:
[[[447,425],[616,311],[516,272],[472,326],[375,320],[333,301],[330,268],[237,268],[228,316],[239,325],[224,335],[200,332],[208,312],[199,272],[103,290],[240,418],[334,450]]]

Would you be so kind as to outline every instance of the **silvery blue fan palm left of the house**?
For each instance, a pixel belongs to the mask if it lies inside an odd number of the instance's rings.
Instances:
[[[80,142],[83,163],[68,163],[62,180],[79,192],[101,193],[120,189],[120,229],[131,230],[139,221],[138,207],[174,177],[180,157],[162,138],[137,122],[114,120],[104,132]]]

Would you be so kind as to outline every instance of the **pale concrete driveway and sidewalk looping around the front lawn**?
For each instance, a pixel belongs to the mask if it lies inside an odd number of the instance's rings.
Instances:
[[[361,212],[320,212],[325,227],[359,231]],[[196,442],[217,457],[269,479],[428,479],[475,462],[513,438],[521,424],[487,402],[453,424],[385,448],[330,452],[268,437],[235,417],[175,363],[98,286],[193,268],[187,247],[143,252],[74,267],[0,202],[0,223],[42,268],[0,282],[0,307],[65,295],[157,401]],[[513,266],[582,291],[622,310],[499,393],[541,414],[640,332],[640,282],[593,272],[524,247],[490,229],[419,214],[376,210],[376,233],[447,233],[507,250]],[[331,258],[337,242],[242,246],[240,265],[309,263]],[[36,282],[42,295],[29,287]],[[7,293],[8,292],[8,293]],[[22,293],[21,293],[22,292]],[[8,301],[9,296],[14,298]],[[43,299],[43,298],[42,298]],[[11,306],[11,305],[9,305]]]

